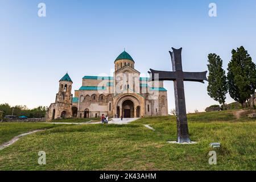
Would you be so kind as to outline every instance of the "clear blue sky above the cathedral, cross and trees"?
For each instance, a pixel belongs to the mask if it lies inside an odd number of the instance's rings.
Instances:
[[[47,16],[38,17],[46,3]],[[208,16],[210,2],[217,17]],[[226,69],[233,48],[244,46],[256,59],[256,1],[0,1],[0,103],[49,106],[68,71],[73,90],[84,75],[107,73],[126,48],[135,69],[171,70],[168,51],[183,47],[184,71],[207,70],[208,53]],[[171,81],[168,107],[174,104]],[[216,104],[207,83],[185,82],[187,110]],[[227,102],[232,102],[229,97]]]

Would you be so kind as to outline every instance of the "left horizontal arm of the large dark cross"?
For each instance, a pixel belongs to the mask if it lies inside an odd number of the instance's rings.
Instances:
[[[176,73],[175,72],[167,72],[167,71],[156,71],[154,69],[150,69],[151,74],[150,80],[155,81],[163,81],[163,80],[176,80]]]

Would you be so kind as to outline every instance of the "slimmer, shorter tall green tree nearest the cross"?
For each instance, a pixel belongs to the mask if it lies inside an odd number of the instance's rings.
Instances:
[[[225,71],[222,69],[222,60],[215,53],[210,53],[208,63],[208,95],[224,107],[226,93],[228,93],[228,82],[226,81]]]

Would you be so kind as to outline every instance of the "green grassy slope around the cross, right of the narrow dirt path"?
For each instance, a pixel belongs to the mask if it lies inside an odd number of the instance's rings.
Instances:
[[[167,143],[176,140],[175,117],[142,118],[129,125],[55,127],[0,151],[0,169],[255,170],[255,119],[237,120],[232,112],[188,114],[191,139],[198,142],[191,145]],[[221,142],[217,165],[208,163],[210,142]],[[39,151],[46,152],[46,165],[38,164]]]

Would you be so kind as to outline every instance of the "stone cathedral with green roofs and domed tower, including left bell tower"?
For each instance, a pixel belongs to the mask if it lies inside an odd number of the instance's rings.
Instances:
[[[140,77],[135,61],[123,51],[114,61],[112,76],[84,76],[72,94],[68,73],[59,81],[55,103],[46,113],[47,121],[58,118],[109,117],[140,118],[168,115],[167,90],[163,81]]]

